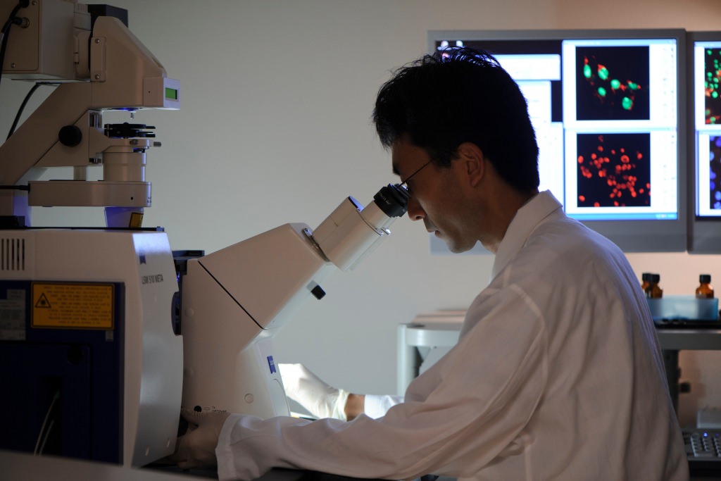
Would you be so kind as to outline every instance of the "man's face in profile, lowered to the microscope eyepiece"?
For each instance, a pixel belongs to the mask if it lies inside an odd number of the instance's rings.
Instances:
[[[443,239],[451,252],[472,249],[478,240],[477,219],[469,209],[462,162],[454,161],[451,167],[425,165],[430,162],[428,153],[405,139],[393,144],[391,153],[393,170],[402,181],[416,172],[407,183],[410,219],[423,220],[425,229]]]

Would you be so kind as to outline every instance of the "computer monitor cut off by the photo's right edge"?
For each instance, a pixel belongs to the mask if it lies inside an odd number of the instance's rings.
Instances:
[[[721,252],[721,32],[689,32],[689,252]]]

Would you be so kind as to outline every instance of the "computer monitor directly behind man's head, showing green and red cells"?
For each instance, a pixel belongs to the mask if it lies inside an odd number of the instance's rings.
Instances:
[[[684,30],[431,31],[495,56],[539,143],[541,190],[625,252],[686,250]]]

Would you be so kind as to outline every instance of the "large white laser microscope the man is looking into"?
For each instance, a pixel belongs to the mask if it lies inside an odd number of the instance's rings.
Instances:
[[[180,82],[122,9],[0,0],[0,18],[4,80],[55,86],[0,145],[0,449],[141,467],[172,454],[181,407],[288,415],[275,333],[388,237],[407,190],[174,255],[142,226],[154,127],[102,114],[179,109]],[[39,180],[54,167],[72,178]],[[106,226],[34,226],[32,206],[105,208]]]

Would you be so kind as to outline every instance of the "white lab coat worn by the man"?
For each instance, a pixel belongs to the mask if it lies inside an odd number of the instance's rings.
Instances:
[[[231,415],[221,480],[272,467],[404,480],[687,480],[645,298],[623,253],[536,195],[511,222],[459,343],[386,415]]]

